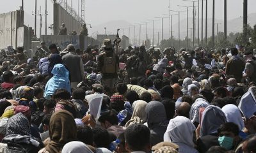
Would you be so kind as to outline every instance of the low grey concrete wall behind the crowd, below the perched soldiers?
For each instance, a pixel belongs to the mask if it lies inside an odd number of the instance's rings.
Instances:
[[[44,40],[46,46],[55,43],[63,50],[68,44],[72,43],[76,48],[84,50],[88,45],[99,45],[99,41],[94,40],[88,36],[63,36],[63,35],[42,35],[40,40]]]

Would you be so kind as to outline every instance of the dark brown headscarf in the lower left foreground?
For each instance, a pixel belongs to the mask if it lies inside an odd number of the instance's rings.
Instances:
[[[76,122],[67,110],[59,110],[52,114],[49,124],[51,141],[46,144],[45,150],[52,153],[61,152],[62,147],[76,140]]]

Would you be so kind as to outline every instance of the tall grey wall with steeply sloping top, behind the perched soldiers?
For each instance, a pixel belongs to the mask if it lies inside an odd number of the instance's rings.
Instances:
[[[67,34],[71,31],[76,31],[77,34],[81,31],[81,23],[72,17],[65,9],[63,9],[60,4],[54,3],[53,6],[53,24],[54,24],[54,34],[57,35],[60,32],[60,27],[62,23],[66,24]]]

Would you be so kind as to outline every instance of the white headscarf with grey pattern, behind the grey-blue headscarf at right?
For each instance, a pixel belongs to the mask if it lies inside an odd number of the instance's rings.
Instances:
[[[197,98],[195,103],[190,108],[189,111],[189,119],[191,122],[198,122],[199,123],[199,110],[200,108],[205,108],[209,106],[210,104],[203,98]]]

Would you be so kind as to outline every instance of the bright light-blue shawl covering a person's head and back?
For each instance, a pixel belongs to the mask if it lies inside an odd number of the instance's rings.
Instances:
[[[69,71],[63,64],[56,64],[51,71],[53,77],[45,85],[44,97],[49,98],[57,89],[66,89],[71,93]]]

